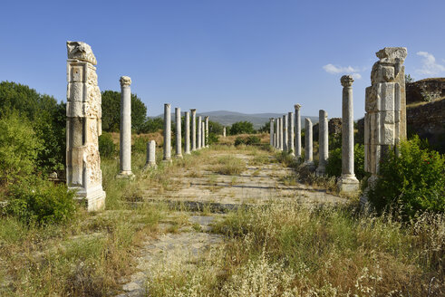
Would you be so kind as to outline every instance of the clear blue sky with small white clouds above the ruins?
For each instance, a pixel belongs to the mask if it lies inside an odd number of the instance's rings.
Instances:
[[[67,40],[92,46],[99,86],[121,75],[149,115],[182,110],[293,110],[341,116],[340,77],[354,73],[364,114],[375,52],[405,46],[416,80],[445,76],[445,1],[3,1],[0,81],[66,101]]]

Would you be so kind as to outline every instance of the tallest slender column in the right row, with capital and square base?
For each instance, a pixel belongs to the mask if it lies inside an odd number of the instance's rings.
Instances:
[[[353,173],[353,76],[343,75],[342,101],[342,176],[338,183],[341,192],[355,192],[359,181]]]

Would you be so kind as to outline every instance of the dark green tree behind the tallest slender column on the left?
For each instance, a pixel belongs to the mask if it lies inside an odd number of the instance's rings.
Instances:
[[[140,98],[131,93],[131,129],[140,133],[147,118],[147,107]],[[121,126],[121,92],[102,91],[102,129],[119,131]]]

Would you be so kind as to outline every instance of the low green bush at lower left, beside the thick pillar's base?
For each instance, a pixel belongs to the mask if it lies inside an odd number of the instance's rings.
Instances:
[[[11,200],[6,213],[26,224],[58,224],[73,217],[76,206],[73,191],[64,184],[29,177],[10,187]]]

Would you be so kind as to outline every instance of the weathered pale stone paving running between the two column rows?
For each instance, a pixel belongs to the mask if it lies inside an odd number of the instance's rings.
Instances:
[[[224,152],[209,151],[215,158]],[[222,206],[239,206],[241,204],[256,205],[268,200],[293,199],[302,203],[342,203],[343,198],[326,194],[323,190],[315,190],[299,183],[285,186],[283,177],[292,175],[292,169],[284,168],[279,163],[251,165],[253,157],[248,154],[236,154],[247,163],[247,170],[236,176],[216,174],[211,165],[200,164],[196,171],[180,172],[171,177],[174,189],[162,191],[158,188],[144,188],[144,198],[169,202],[197,202],[202,205],[216,204]],[[198,171],[198,173],[197,173]],[[203,215],[203,216],[199,216]],[[174,214],[171,216],[175,216]],[[211,233],[211,223],[223,214],[189,212],[188,222],[171,233],[169,220],[162,223],[161,235],[149,238],[140,250],[137,259],[138,272],[125,283],[124,296],[145,296],[146,283],[150,279],[150,271],[155,266],[169,265],[172,261],[186,267],[193,265],[199,258],[205,257],[212,247],[223,241],[222,235]]]

